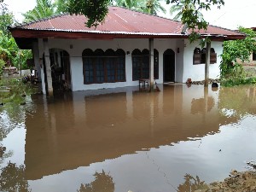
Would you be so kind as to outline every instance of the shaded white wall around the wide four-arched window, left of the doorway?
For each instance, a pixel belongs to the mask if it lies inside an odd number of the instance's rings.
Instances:
[[[71,46],[72,45],[72,49]],[[149,49],[148,38],[145,39],[113,39],[113,40],[67,40],[49,39],[49,49],[65,49],[70,55],[72,90],[97,90],[124,86],[137,86],[138,81],[132,81],[131,52],[134,49]],[[123,49],[130,54],[125,55],[126,82],[84,84],[82,53],[84,49]],[[154,49],[159,51],[159,79],[157,84],[163,83],[163,53],[166,49],[176,50],[175,39],[154,39]]]

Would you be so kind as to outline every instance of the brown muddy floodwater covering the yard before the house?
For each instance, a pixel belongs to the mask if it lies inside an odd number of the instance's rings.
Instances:
[[[256,160],[255,86],[160,90],[0,107],[0,191],[193,191]]]

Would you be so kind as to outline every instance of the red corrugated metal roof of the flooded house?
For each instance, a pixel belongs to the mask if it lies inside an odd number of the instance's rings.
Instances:
[[[188,38],[182,34],[181,22],[119,7],[109,7],[104,22],[96,28],[85,26],[86,21],[84,15],[55,15],[10,27],[10,32],[15,38]],[[208,26],[201,35],[222,40],[245,37],[217,26]]]

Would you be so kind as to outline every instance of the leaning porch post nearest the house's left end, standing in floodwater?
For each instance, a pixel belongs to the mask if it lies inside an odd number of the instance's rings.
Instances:
[[[48,39],[44,38],[44,61],[46,67],[46,79],[48,85],[48,95],[53,96],[53,87],[52,87],[52,78],[51,78],[51,67],[49,61],[49,47],[48,47]]]

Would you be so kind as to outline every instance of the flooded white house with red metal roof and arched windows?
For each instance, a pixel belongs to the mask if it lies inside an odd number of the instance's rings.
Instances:
[[[96,28],[85,22],[83,15],[56,15],[9,27],[20,49],[32,49],[44,94],[63,84],[76,91],[134,86],[139,79],[152,84],[153,77],[157,84],[205,79],[206,49],[189,44],[181,22],[119,7],[109,7]],[[209,78],[216,79],[223,42],[245,35],[208,26],[201,37],[212,40]]]

